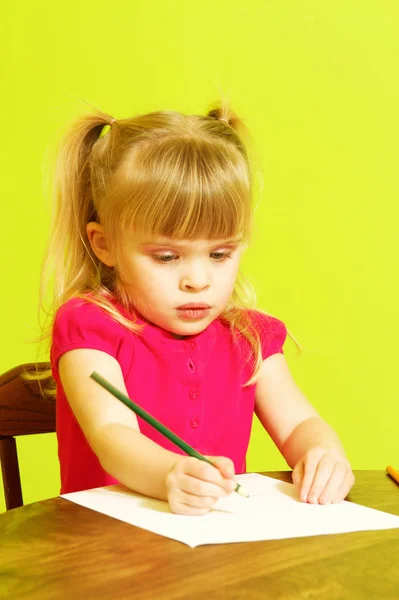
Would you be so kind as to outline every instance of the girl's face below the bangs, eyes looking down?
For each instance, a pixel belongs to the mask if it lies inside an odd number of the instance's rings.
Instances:
[[[118,272],[136,309],[177,335],[203,331],[225,309],[233,292],[239,239],[122,238]],[[181,308],[184,305],[208,308]]]

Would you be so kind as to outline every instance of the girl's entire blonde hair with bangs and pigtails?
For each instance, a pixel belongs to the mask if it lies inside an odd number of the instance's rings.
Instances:
[[[91,249],[86,233],[91,221],[104,226],[115,252],[118,231],[125,227],[175,239],[239,234],[249,242],[253,210],[246,135],[226,105],[206,116],[159,111],[115,120],[95,110],[79,118],[56,162],[56,211],[44,269],[44,277],[54,271],[54,297],[42,339],[51,336],[58,308],[79,296],[127,329],[141,329],[112,302],[129,309],[117,270]],[[250,343],[254,370],[245,385],[255,383],[262,364],[259,334],[245,310],[254,305],[254,291],[240,273],[220,318]]]

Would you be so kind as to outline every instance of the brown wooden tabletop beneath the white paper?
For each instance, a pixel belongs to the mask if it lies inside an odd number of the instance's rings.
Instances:
[[[383,471],[355,476],[349,500],[399,515],[399,485]],[[397,599],[399,529],[193,549],[63,498],[0,515],[0,598],[208,597]]]

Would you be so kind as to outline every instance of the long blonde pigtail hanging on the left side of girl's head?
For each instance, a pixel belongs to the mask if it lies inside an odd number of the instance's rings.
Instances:
[[[101,111],[84,115],[69,127],[59,145],[53,175],[55,211],[41,282],[43,299],[53,276],[54,302],[50,310],[41,302],[47,315],[53,316],[64,301],[87,289],[87,282],[97,278],[98,260],[86,234],[86,224],[97,219],[92,153],[97,143],[106,144],[102,132],[106,125],[113,128],[113,121]]]

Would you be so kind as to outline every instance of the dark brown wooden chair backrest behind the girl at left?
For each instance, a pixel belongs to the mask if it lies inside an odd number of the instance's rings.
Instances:
[[[27,381],[22,375],[49,368],[49,363],[27,363],[0,375],[0,462],[7,510],[23,505],[14,436],[55,431],[55,401],[42,393],[48,381]]]

